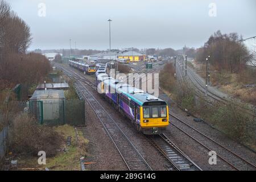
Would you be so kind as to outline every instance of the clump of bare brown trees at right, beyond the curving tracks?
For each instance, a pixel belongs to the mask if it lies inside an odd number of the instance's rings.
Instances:
[[[237,33],[221,34],[214,32],[204,47],[197,51],[197,61],[205,61],[210,55],[212,65],[221,71],[229,70],[231,73],[240,72],[245,67],[251,55],[246,46],[240,41]]]

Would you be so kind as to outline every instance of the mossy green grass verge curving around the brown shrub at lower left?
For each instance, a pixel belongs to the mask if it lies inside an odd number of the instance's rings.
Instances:
[[[47,157],[46,165],[38,164],[38,157],[18,158],[18,167],[20,170],[49,170],[55,171],[77,171],[80,170],[80,158],[88,155],[86,152],[88,140],[82,135],[82,132],[76,130],[75,127],[69,125],[53,127],[54,130],[61,135],[63,140],[71,136],[71,146],[67,146],[65,142],[61,143],[61,147],[55,156]]]

